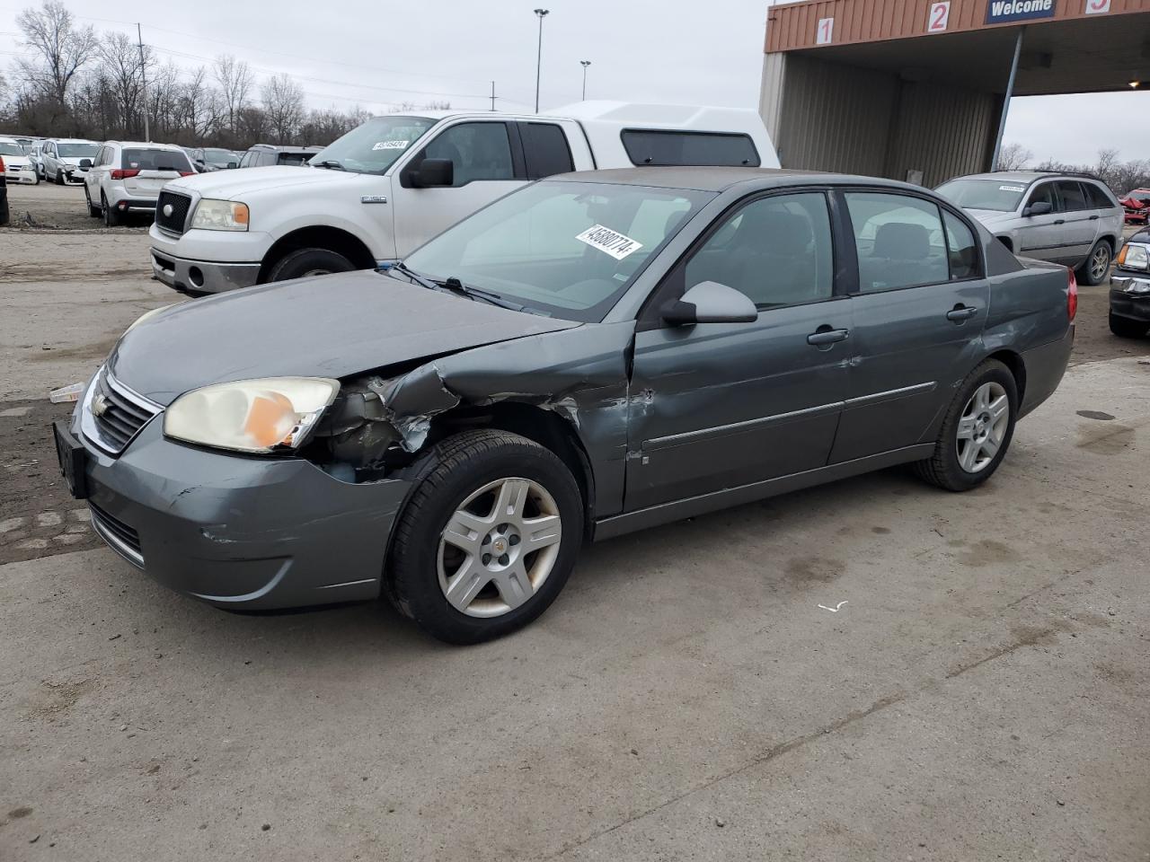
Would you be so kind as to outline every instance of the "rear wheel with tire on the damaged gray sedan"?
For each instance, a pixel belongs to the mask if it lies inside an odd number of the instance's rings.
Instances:
[[[987,393],[989,403],[977,400]],[[994,406],[1006,399],[1006,415],[999,424]],[[986,417],[990,417],[987,422]],[[934,454],[914,464],[919,477],[946,491],[969,491],[989,479],[1010,448],[1018,416],[1018,385],[1002,362],[987,360],[963,380],[938,431]],[[959,434],[963,433],[960,439]],[[969,436],[968,436],[969,434]],[[980,441],[981,436],[981,441]],[[991,453],[991,444],[996,448]],[[977,448],[967,460],[971,446]]]

